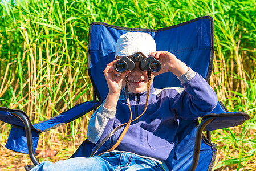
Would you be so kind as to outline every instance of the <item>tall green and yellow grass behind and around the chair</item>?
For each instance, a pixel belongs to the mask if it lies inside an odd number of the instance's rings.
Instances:
[[[229,111],[249,113],[242,126],[213,132],[216,169],[254,170],[256,2],[248,1],[0,1],[0,106],[23,109],[32,122],[92,99],[87,72],[88,29],[93,21],[133,28],[162,28],[203,15],[214,18],[210,80]],[[45,133],[39,146],[58,140],[74,150],[88,116],[64,131]],[[9,126],[1,135],[6,142]],[[71,131],[70,128],[71,127]],[[75,137],[77,137],[75,139]],[[79,142],[78,142],[79,141]],[[66,146],[65,146],[66,145]],[[61,154],[60,154],[61,155]],[[65,157],[65,156],[63,156]]]

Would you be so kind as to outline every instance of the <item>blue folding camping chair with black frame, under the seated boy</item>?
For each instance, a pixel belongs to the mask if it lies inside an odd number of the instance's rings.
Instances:
[[[199,17],[158,30],[127,28],[93,22],[90,25],[88,40],[88,72],[94,86],[94,101],[76,105],[58,116],[36,124],[32,124],[26,113],[19,109],[0,107],[0,120],[12,125],[6,148],[28,153],[31,161],[38,165],[39,162],[34,153],[40,132],[68,123],[99,107],[108,93],[103,70],[109,62],[115,59],[116,41],[125,32],[151,34],[156,41],[157,51],[172,52],[209,82],[214,54],[212,17]],[[154,86],[155,88],[181,87],[181,83],[175,75],[168,72],[156,76]],[[98,100],[96,101],[96,99]],[[247,113],[228,112],[221,101],[218,102],[212,113],[202,117],[201,124],[198,124],[198,120],[181,119],[178,128],[178,143],[174,148],[172,161],[174,170],[212,170],[217,154],[217,145],[210,142],[210,131],[241,125],[248,119],[250,116]],[[207,131],[207,138],[202,135],[203,131]],[[71,158],[89,157],[94,147],[95,144],[85,140]],[[30,169],[29,166],[25,166],[25,168],[26,170]]]

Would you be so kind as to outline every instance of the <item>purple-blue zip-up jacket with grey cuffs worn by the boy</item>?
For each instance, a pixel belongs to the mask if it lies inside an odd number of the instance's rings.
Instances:
[[[155,89],[151,85],[147,111],[129,126],[116,150],[165,161],[172,170],[173,148],[177,143],[179,118],[196,120],[212,112],[218,100],[213,89],[196,72],[193,78],[181,82],[184,88]],[[136,95],[129,93],[132,119],[143,113],[146,94],[147,92]],[[95,144],[100,143],[114,128],[127,123],[129,117],[125,92],[122,91],[116,111],[108,110],[101,105],[92,115],[88,124],[88,140]],[[108,139],[96,155],[110,149],[116,143],[123,128]]]

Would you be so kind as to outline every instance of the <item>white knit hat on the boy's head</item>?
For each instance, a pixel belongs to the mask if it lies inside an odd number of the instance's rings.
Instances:
[[[155,51],[155,40],[145,32],[127,32],[122,34],[116,42],[116,56],[131,56],[141,52],[148,57]]]

